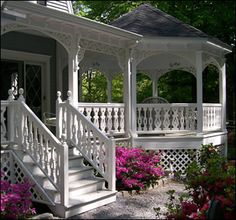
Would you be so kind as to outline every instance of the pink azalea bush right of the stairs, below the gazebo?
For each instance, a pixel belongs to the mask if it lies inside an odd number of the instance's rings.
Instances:
[[[142,148],[116,148],[117,189],[142,190],[157,184],[164,175],[160,155]]]

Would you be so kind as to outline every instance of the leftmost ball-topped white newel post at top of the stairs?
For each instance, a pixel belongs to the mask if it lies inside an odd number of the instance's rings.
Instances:
[[[7,114],[7,128],[8,128],[8,140],[10,142],[14,141],[14,118],[15,118],[15,105],[14,105],[14,95],[12,89],[8,90],[8,101],[9,101],[9,109]]]

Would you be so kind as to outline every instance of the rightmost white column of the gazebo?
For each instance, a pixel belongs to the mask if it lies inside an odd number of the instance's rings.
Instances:
[[[220,103],[222,105],[221,112],[221,129],[226,130],[226,64],[224,62],[219,71],[219,91],[220,91]]]

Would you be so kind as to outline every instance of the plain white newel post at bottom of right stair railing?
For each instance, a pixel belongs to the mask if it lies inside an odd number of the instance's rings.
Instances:
[[[108,145],[108,189],[116,190],[116,143],[115,139],[111,137]]]

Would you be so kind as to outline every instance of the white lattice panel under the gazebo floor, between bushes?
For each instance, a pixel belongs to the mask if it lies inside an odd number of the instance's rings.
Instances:
[[[197,149],[169,149],[160,150],[160,152],[164,169],[170,169],[172,164],[174,172],[184,173],[190,162],[194,159],[198,160]]]

